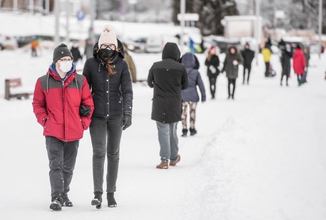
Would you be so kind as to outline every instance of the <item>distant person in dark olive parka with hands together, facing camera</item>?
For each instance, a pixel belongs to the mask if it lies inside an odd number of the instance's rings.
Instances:
[[[222,73],[226,72],[226,77],[228,78],[228,99],[232,97],[234,99],[234,92],[235,92],[235,80],[238,77],[238,67],[242,64],[242,57],[238,53],[236,46],[230,46],[228,53],[226,54],[224,65],[222,69]],[[231,94],[230,86],[233,86],[233,91]]]

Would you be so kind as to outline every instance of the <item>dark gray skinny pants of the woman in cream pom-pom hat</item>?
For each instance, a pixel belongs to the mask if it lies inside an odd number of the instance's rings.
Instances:
[[[90,134],[93,146],[94,192],[103,193],[104,161],[107,156],[106,192],[116,191],[118,178],[121,120],[123,115],[109,118],[93,118]]]

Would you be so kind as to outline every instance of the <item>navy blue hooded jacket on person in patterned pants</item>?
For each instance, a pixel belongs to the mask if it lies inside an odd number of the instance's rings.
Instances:
[[[181,58],[181,63],[184,64],[187,70],[189,81],[188,88],[182,91],[182,101],[198,102],[199,95],[197,92],[197,86],[199,87],[202,96],[201,100],[206,101],[205,87],[198,71],[199,62],[197,57],[193,53],[185,53]]]

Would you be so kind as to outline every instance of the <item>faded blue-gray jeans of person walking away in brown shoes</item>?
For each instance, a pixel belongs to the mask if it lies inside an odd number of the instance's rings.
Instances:
[[[156,121],[158,130],[158,142],[160,146],[159,155],[162,162],[168,162],[170,160],[176,160],[178,156],[178,136],[177,125],[174,123],[162,123]]]

